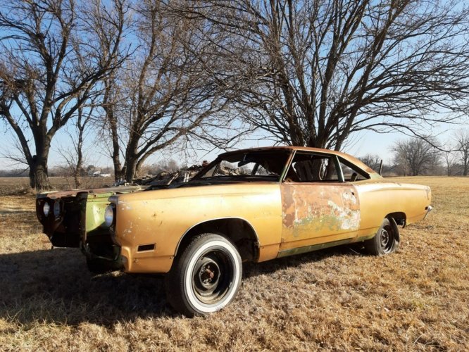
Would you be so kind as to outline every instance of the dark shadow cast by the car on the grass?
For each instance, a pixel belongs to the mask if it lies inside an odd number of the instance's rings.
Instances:
[[[341,246],[246,263],[244,277],[351,253]],[[22,325],[39,321],[109,326],[119,320],[176,315],[166,301],[162,276],[111,272],[93,277],[78,249],[1,254],[0,287],[0,318]]]

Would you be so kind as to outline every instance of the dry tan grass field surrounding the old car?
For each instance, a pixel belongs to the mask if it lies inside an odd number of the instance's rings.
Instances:
[[[232,305],[188,319],[161,277],[92,277],[79,250],[51,250],[27,180],[0,179],[0,349],[467,351],[469,177],[399,180],[430,185],[435,210],[401,230],[398,253],[244,265]]]

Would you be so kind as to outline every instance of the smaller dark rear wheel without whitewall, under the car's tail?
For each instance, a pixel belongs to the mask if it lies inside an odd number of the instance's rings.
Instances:
[[[385,218],[373,239],[365,241],[365,250],[373,256],[384,256],[399,248],[399,229],[392,218]]]

